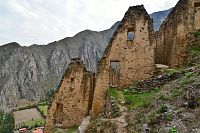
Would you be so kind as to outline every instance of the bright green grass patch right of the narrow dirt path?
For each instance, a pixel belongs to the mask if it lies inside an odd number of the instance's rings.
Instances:
[[[124,99],[126,102],[126,105],[128,105],[129,109],[132,108],[141,108],[144,107],[154,99],[157,93],[159,93],[159,89],[155,89],[150,92],[143,92],[143,93],[137,93],[137,94],[131,94],[124,92]]]

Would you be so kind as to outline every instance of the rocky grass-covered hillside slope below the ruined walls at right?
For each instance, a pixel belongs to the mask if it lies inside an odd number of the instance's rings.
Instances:
[[[179,76],[173,78],[173,75]],[[159,78],[157,81],[149,79],[141,83],[144,87],[149,85],[149,90],[134,84],[124,89],[110,88],[107,91],[107,96],[112,97],[118,104],[124,99],[125,106],[128,108],[126,116],[128,132],[140,133],[145,130],[144,125],[147,125],[147,131],[153,133],[200,131],[200,108],[199,106],[189,107],[192,99],[187,97],[189,88],[200,83],[199,65],[189,70],[167,69],[162,76],[168,80],[161,86]],[[155,81],[158,86],[155,85]],[[145,85],[145,83],[148,84]],[[154,87],[151,86],[152,84]],[[196,105],[200,104],[200,97],[197,99],[192,101],[197,102]],[[106,115],[101,115],[93,120],[89,128],[97,131],[97,128],[110,130],[111,127],[115,127],[112,121],[103,122],[102,118],[105,117]],[[114,132],[115,128],[112,130]]]

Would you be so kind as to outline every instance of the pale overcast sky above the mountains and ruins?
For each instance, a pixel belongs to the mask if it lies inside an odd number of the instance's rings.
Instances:
[[[149,13],[178,0],[0,0],[0,45],[47,44],[85,30],[101,31],[123,18],[129,6]]]

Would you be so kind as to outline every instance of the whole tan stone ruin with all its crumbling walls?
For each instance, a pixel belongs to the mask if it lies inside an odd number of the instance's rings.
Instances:
[[[104,110],[109,87],[147,79],[156,71],[155,64],[181,66],[189,45],[186,34],[196,29],[199,0],[180,0],[156,33],[144,6],[130,7],[98,62],[96,75],[80,59],[72,60],[48,109],[45,133],[79,125],[89,114],[97,116]]]

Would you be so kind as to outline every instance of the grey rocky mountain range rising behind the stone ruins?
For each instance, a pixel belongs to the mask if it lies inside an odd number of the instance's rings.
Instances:
[[[155,30],[170,10],[151,15]],[[0,46],[0,110],[10,111],[20,99],[43,99],[57,88],[72,58],[81,58],[87,69],[95,72],[97,60],[119,23],[108,30],[85,30],[47,45],[22,47],[13,42]]]

